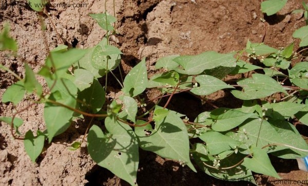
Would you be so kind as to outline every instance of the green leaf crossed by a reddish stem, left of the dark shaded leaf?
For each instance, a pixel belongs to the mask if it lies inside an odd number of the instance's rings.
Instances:
[[[49,87],[53,84],[51,79],[46,78],[46,81]],[[71,108],[75,108],[76,94],[77,88],[73,82],[68,79],[61,79],[56,81],[49,99],[60,102]],[[61,134],[70,126],[70,120],[73,113],[74,111],[68,108],[53,105],[48,101],[46,102],[44,108],[44,119],[48,131],[49,142],[51,142],[55,135]]]

